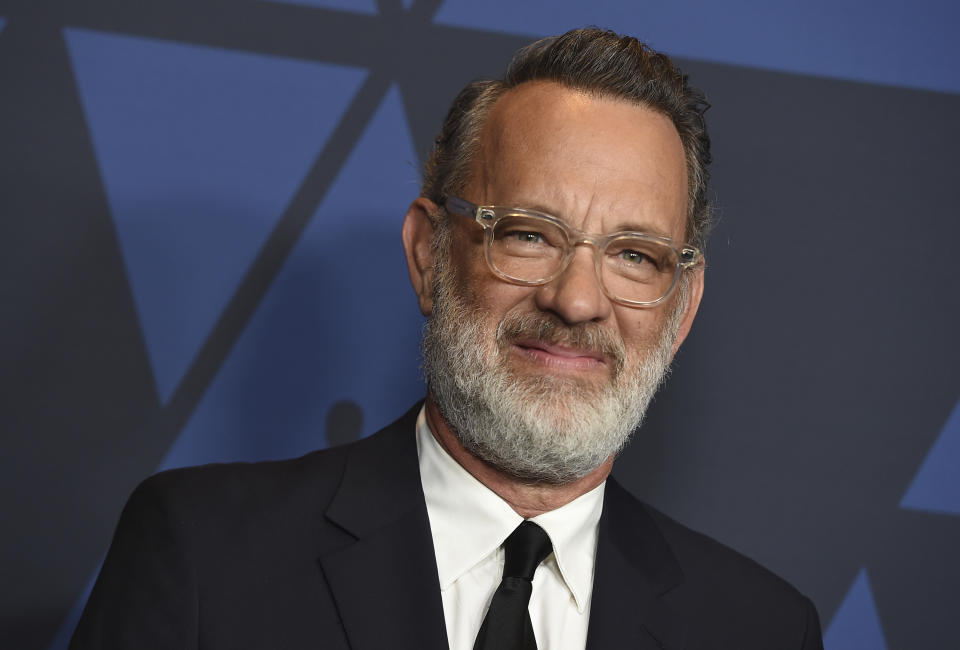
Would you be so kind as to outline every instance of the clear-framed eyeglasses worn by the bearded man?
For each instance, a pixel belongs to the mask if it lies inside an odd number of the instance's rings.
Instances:
[[[512,284],[537,286],[557,278],[576,246],[594,249],[597,279],[610,300],[655,307],[676,287],[681,273],[703,265],[694,246],[642,232],[585,233],[542,212],[475,205],[448,197],[448,212],[474,219],[485,232],[487,264]]]

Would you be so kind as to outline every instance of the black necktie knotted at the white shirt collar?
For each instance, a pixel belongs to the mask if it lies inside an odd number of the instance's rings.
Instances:
[[[536,650],[530,624],[533,572],[553,546],[540,526],[525,521],[503,543],[503,579],[493,594],[473,650]]]

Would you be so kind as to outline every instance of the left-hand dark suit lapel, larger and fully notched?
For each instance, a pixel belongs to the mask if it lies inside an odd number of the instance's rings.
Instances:
[[[418,411],[351,448],[327,509],[355,538],[319,560],[353,650],[447,647],[414,437]]]

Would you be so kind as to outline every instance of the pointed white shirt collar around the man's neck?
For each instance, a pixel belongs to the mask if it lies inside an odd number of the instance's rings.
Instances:
[[[433,437],[423,409],[417,418],[417,451],[440,588],[447,589],[495,552],[523,517],[447,453]],[[605,486],[532,519],[550,537],[560,575],[581,613],[593,592]]]

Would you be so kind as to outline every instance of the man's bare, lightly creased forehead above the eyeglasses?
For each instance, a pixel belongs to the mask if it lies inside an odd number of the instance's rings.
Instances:
[[[551,82],[497,101],[468,192],[473,202],[539,209],[593,232],[684,235],[686,164],[669,118]]]

